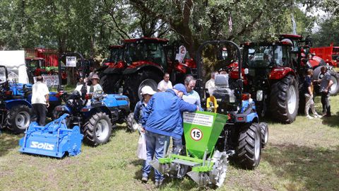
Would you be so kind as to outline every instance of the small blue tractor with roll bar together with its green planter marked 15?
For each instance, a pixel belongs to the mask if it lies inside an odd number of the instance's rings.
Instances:
[[[205,99],[203,62],[208,61],[222,72],[215,76],[215,89]],[[259,123],[254,101],[249,93],[243,93],[242,57],[234,42],[204,42],[198,48],[196,62],[197,91],[206,101],[208,112],[184,113],[186,154],[170,153],[151,164],[169,177],[182,178],[187,174],[199,186],[220,187],[230,160],[246,169],[258,166],[261,149],[268,141],[268,126]],[[234,62],[238,78],[230,81],[227,68]],[[191,171],[187,173],[188,170]]]

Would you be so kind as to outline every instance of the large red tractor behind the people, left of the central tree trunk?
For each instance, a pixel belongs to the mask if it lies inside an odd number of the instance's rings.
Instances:
[[[120,47],[111,48],[111,57],[119,52]],[[186,60],[185,64],[174,61],[173,47],[168,40],[142,37],[124,40],[121,57],[114,57],[101,69],[100,84],[106,93],[117,93],[123,89],[124,95],[131,102],[131,109],[141,99],[141,88],[150,86],[157,91],[157,83],[162,80],[165,72],[171,74],[172,83],[183,79],[185,74],[194,74],[196,64]],[[118,53],[117,53],[118,54]],[[181,81],[182,82],[182,81]]]

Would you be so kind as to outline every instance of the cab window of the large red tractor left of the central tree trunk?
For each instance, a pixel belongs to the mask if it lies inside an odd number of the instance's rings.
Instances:
[[[129,43],[125,51],[128,62],[149,61],[166,66],[164,46],[160,43]]]

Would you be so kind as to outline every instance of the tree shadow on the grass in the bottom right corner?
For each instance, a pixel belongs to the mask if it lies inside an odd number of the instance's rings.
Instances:
[[[339,187],[339,146],[330,150],[270,144],[263,156],[278,178],[290,180],[290,184],[284,185],[287,190],[337,190]]]

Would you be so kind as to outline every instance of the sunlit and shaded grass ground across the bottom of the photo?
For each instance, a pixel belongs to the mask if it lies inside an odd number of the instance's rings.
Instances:
[[[320,103],[319,97],[316,103]],[[338,190],[339,96],[331,98],[333,117],[291,125],[268,121],[269,143],[256,170],[229,166],[218,190]],[[316,105],[321,112],[321,104]],[[23,135],[0,135],[0,190],[155,190],[141,183],[136,157],[138,133],[118,126],[108,144],[83,145],[79,156],[62,159],[20,154]],[[189,178],[166,180],[162,190],[201,190]]]

